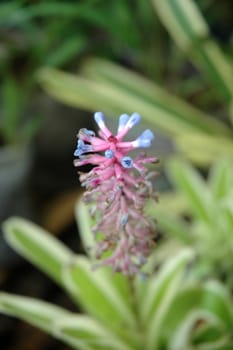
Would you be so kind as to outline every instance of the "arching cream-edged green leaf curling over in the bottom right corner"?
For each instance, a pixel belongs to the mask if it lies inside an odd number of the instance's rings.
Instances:
[[[162,337],[166,340],[171,340],[173,337],[179,339],[180,333],[188,332],[189,326],[184,320],[189,319],[191,322],[192,315],[195,315],[197,310],[203,316],[207,315],[207,318],[204,317],[207,325],[218,328],[220,339],[223,336],[228,337],[233,326],[232,307],[232,301],[226,289],[217,282],[186,287],[176,295],[170,306],[164,320]]]

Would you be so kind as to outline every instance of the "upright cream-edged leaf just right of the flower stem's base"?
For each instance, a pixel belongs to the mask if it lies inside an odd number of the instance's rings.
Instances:
[[[157,276],[151,276],[139,285],[138,302],[142,323],[147,325],[148,350],[157,349],[163,320],[183,280],[185,268],[193,258],[193,251],[183,249],[162,267]]]

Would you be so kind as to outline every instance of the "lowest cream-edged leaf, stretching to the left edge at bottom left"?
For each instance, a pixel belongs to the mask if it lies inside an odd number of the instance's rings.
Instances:
[[[74,349],[133,350],[99,322],[33,298],[0,293],[0,312],[18,317]]]

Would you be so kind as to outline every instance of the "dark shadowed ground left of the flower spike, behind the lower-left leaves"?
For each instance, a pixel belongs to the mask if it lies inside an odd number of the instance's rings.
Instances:
[[[92,116],[61,106],[45,96],[34,108],[47,115],[42,129],[31,145],[33,159],[27,181],[28,208],[12,208],[8,216],[21,215],[48,229],[75,252],[82,251],[74,220],[74,204],[80,196],[73,150],[81,126],[92,127]],[[29,210],[28,210],[29,209]],[[0,257],[0,290],[35,297],[76,312],[69,297],[47,276],[5,248]],[[66,350],[68,347],[17,319],[0,315],[2,350]]]

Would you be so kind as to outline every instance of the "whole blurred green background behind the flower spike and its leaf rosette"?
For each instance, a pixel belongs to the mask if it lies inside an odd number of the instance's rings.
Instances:
[[[227,0],[1,1],[0,220],[23,216],[82,250],[76,133],[95,127],[94,111],[113,127],[137,111],[161,159],[160,204],[147,208],[161,236],[156,263],[193,247],[193,275],[232,295],[232,17]],[[72,309],[2,232],[0,284]],[[4,350],[66,349],[34,330],[30,345],[31,328],[0,320]]]

